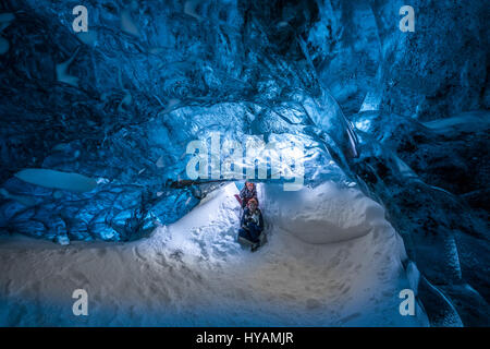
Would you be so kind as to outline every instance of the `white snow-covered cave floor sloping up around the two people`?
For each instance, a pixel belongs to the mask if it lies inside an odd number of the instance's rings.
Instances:
[[[402,316],[404,248],[383,209],[334,183],[259,186],[269,242],[236,242],[234,183],[131,243],[0,240],[3,326],[425,326]],[[74,316],[72,292],[88,293]]]

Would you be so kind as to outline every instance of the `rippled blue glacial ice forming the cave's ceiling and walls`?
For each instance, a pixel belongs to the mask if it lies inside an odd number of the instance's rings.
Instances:
[[[432,324],[488,324],[485,1],[411,1],[414,33],[397,0],[78,4],[0,4],[2,232],[138,239],[219,185],[191,141],[295,139],[305,184],[385,206]]]

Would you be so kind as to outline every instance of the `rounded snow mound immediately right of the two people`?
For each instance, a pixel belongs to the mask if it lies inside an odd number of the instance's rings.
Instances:
[[[333,182],[294,192],[266,185],[265,191],[268,219],[305,242],[345,241],[385,224],[378,203],[357,189],[341,189]]]

